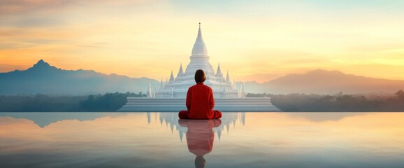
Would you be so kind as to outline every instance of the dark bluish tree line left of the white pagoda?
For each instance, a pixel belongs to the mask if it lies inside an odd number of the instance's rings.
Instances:
[[[145,97],[142,92],[106,93],[88,96],[50,96],[45,94],[0,96],[2,112],[85,112],[117,111],[127,97]]]

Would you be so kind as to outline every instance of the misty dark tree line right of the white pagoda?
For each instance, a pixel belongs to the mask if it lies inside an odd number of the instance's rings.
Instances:
[[[252,94],[246,97],[271,97],[282,111],[404,111],[404,91],[395,94]]]

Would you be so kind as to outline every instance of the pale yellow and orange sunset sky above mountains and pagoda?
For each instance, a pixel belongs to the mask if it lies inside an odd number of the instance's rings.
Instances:
[[[404,80],[400,0],[0,1],[0,72],[44,59],[165,79],[189,63],[201,21],[210,63],[237,81],[315,69]]]

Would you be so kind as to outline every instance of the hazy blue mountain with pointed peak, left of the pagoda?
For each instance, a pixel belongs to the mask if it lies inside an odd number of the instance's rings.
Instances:
[[[150,78],[106,75],[91,70],[63,70],[42,59],[24,71],[0,73],[0,94],[103,94],[106,92],[145,92]]]

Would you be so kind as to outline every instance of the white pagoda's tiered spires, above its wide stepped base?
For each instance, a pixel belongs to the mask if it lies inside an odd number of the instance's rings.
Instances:
[[[174,78],[173,71],[171,71],[170,79],[164,83],[161,79],[159,90],[155,90],[155,97],[181,97],[187,96],[187,90],[192,85],[195,85],[195,72],[198,69],[205,71],[205,85],[208,85],[213,90],[213,95],[217,97],[243,97],[244,95],[238,94],[236,83],[231,83],[229,71],[226,73],[226,78],[220,69],[220,64],[217,66],[216,73],[209,62],[208,50],[206,50],[205,42],[202,38],[201,23],[199,23],[198,36],[192,48],[192,55],[189,57],[190,62],[187,65],[185,72],[182,70],[182,64],[178,70],[177,76]],[[243,92],[243,90],[240,90]]]

